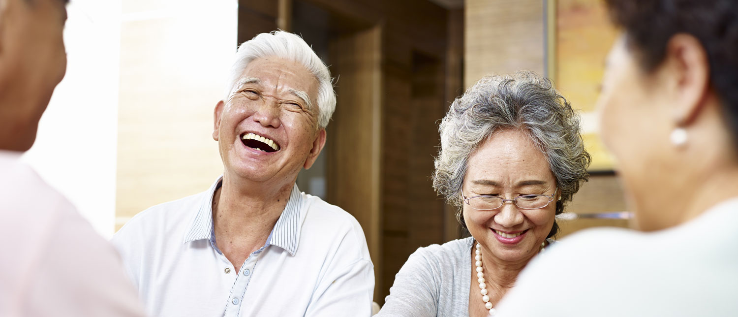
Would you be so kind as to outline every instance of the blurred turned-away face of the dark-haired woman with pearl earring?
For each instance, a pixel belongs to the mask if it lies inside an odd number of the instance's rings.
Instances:
[[[665,160],[674,126],[669,87],[660,76],[641,70],[621,36],[607,57],[597,106],[601,135],[618,161],[635,225],[646,231],[663,227],[658,224],[663,218],[663,200],[654,198],[669,197],[663,176],[678,168]]]

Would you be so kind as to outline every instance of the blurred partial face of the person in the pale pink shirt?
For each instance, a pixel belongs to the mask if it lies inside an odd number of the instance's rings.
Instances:
[[[0,84],[6,103],[0,114],[8,119],[2,133],[12,137],[2,146],[25,151],[66,72],[66,1],[6,0],[0,16]]]

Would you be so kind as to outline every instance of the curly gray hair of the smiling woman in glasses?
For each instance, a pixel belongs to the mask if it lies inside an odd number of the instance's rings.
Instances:
[[[561,193],[556,214],[564,211],[565,202],[588,180],[591,159],[579,134],[579,115],[551,81],[534,72],[487,75],[454,100],[439,128],[441,150],[435,158],[433,188],[458,207],[456,217],[464,228],[461,187],[467,162],[501,129],[528,132],[546,155]],[[558,232],[554,222],[548,237]]]

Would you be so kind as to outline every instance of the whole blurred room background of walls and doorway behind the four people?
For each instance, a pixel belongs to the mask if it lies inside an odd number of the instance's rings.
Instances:
[[[592,176],[559,237],[629,225],[610,214],[625,205],[597,133],[617,35],[598,0],[73,0],[68,11],[66,77],[24,160],[108,238],[221,174],[213,109],[232,56],[277,29],[302,35],[338,78],[327,146],[298,185],[359,220],[380,304],[416,248],[463,235],[431,187],[438,120],[488,73],[547,75],[582,113]]]

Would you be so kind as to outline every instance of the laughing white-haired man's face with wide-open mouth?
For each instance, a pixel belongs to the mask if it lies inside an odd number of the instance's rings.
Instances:
[[[255,182],[291,183],[325,143],[318,129],[318,81],[282,58],[248,64],[230,97],[215,107],[213,139],[226,174]]]

